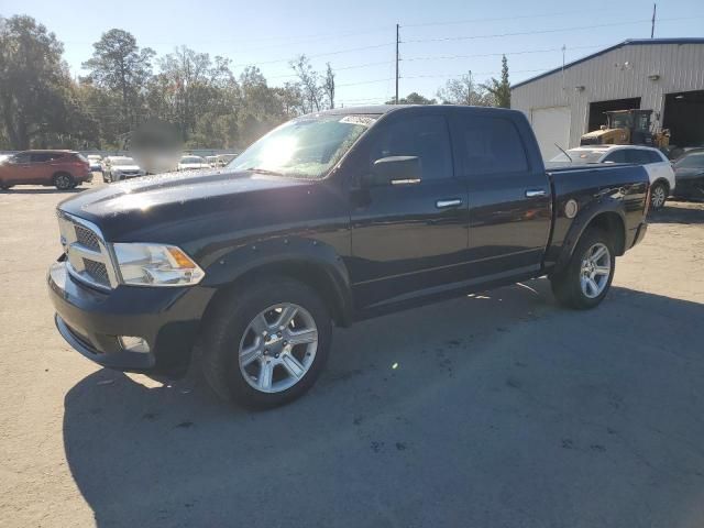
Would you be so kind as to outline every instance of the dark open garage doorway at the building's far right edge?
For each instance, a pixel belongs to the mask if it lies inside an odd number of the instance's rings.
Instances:
[[[662,128],[672,145],[704,145],[704,90],[666,94]]]

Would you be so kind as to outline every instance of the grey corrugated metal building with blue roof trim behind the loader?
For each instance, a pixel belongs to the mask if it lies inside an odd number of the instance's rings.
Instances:
[[[512,87],[544,158],[605,124],[608,110],[653,110],[670,143],[704,145],[704,38],[628,40]]]

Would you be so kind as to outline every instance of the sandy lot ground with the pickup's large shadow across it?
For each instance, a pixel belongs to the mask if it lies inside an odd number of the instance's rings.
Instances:
[[[365,321],[250,413],[62,340],[67,196],[0,193],[1,526],[704,526],[703,205],[653,216],[596,310],[538,279]]]

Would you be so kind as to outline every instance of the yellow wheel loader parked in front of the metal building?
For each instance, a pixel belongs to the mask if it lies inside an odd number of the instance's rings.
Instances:
[[[667,148],[670,144],[668,129],[652,131],[652,110],[614,110],[606,113],[607,124],[584,134],[580,145],[648,145]]]

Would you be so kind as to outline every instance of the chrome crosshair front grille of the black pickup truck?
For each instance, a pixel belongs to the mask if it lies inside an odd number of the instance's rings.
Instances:
[[[96,288],[114,288],[118,277],[100,229],[82,218],[59,210],[56,215],[68,273]]]

